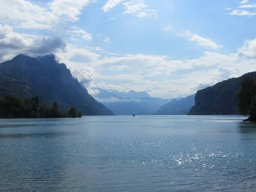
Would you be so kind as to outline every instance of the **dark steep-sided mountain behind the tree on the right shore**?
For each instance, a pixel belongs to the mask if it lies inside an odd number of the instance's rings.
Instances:
[[[198,90],[195,94],[195,106],[189,115],[231,115],[239,114],[236,107],[236,93],[241,87],[241,81],[245,76],[256,79],[256,72],[244,74],[238,78],[219,82],[212,87]]]

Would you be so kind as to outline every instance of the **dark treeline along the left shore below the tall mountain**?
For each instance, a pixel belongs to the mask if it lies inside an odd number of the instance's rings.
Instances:
[[[52,106],[39,105],[39,97],[23,99],[15,96],[0,97],[0,118],[76,118],[82,112],[72,106],[68,111],[61,112],[57,102]]]

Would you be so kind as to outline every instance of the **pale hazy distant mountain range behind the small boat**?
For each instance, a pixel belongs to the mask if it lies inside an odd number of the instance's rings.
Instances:
[[[126,93],[124,91],[118,92],[117,90],[105,90],[98,87],[95,89],[99,90],[95,98],[111,109],[116,115],[151,115],[162,105],[172,100],[154,98],[146,92],[136,92],[134,90]]]

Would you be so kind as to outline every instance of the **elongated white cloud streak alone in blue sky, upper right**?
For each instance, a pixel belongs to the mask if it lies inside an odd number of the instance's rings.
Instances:
[[[211,48],[211,49],[216,49],[216,50],[223,47],[222,45],[218,45],[215,42],[211,41],[210,39],[203,38],[203,37],[199,36],[198,34],[196,34],[196,33],[194,34],[190,31],[185,31],[178,35],[189,38],[189,41],[194,41],[195,43],[198,44],[198,46],[201,46],[201,47],[206,47],[206,48]]]

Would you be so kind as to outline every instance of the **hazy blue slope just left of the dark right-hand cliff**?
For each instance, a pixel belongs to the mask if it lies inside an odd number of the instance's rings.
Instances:
[[[195,94],[183,99],[173,99],[160,107],[154,115],[187,115],[195,105]]]

